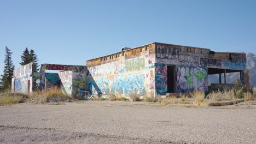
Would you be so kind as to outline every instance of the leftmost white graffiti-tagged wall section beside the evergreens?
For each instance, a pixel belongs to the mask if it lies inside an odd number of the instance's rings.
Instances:
[[[29,63],[14,70],[14,77],[11,82],[12,92],[32,92],[32,65],[33,63]]]

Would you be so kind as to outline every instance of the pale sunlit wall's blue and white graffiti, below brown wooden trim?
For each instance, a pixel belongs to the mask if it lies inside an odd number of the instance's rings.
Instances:
[[[101,92],[103,95],[114,94],[116,97],[128,97],[136,93],[141,96],[154,97],[154,63],[154,55],[144,55],[130,59],[115,59],[115,61],[89,67],[93,78],[91,82],[98,87],[96,90],[95,86],[92,86],[92,94]]]

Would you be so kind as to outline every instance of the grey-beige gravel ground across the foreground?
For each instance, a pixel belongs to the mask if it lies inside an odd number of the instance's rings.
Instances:
[[[80,101],[0,106],[0,143],[256,143],[256,104]]]

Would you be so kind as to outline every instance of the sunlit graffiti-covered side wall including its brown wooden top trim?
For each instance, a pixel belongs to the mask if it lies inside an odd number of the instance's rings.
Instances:
[[[129,97],[130,94],[154,97],[155,45],[137,47],[93,59],[87,67],[98,88],[92,86],[92,94],[114,94]]]

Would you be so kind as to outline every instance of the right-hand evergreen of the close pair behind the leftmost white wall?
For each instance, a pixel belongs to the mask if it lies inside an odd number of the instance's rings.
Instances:
[[[31,49],[30,50],[30,62],[33,62],[33,74],[36,73],[38,70],[39,70],[39,65],[38,65],[38,58],[37,58],[37,55],[36,53],[34,53],[34,50]],[[34,77],[33,75],[33,89],[37,89],[38,86],[37,86],[37,80],[39,79],[39,77]]]

